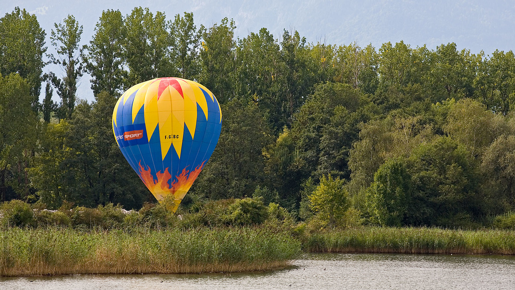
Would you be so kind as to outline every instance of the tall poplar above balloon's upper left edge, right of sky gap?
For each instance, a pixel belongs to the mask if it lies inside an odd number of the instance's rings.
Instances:
[[[84,68],[92,76],[91,89],[94,95],[101,91],[113,96],[121,94],[126,74],[122,50],[125,39],[122,13],[119,10],[102,11],[93,39],[81,50]]]

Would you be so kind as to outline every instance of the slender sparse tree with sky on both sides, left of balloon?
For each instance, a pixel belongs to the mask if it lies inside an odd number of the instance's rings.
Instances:
[[[82,25],[72,15],[68,15],[63,23],[54,23],[55,30],[50,34],[50,43],[56,47],[58,58],[50,55],[56,65],[60,65],[65,75],[62,79],[52,76],[52,83],[61,97],[59,119],[70,119],[75,108],[77,82],[82,76],[82,63],[79,60],[79,42]]]

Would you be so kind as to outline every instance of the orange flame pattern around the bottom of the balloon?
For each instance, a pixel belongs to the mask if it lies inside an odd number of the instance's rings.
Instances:
[[[176,176],[177,180],[172,182],[170,186],[168,185],[168,182],[171,179],[171,174],[168,171],[168,168],[164,170],[164,173],[161,173],[161,171],[156,173],[158,177],[158,180],[156,181],[152,176],[150,167],[145,169],[143,166],[141,166],[140,162],[140,178],[143,183],[145,183],[148,190],[152,192],[152,195],[156,197],[159,202],[162,202],[169,194],[172,194],[174,196],[174,204],[171,206],[170,210],[175,213],[179,207],[179,204],[181,203],[181,200],[186,195],[186,192],[193,185],[193,182],[197,179],[198,174],[200,174],[202,167],[204,167],[204,163],[205,161],[191,172],[184,168],[181,174]]]

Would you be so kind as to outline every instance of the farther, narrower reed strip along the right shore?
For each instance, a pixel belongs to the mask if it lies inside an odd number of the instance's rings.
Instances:
[[[515,231],[362,227],[312,233],[309,252],[515,254]]]

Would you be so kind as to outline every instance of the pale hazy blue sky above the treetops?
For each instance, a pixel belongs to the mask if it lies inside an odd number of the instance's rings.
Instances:
[[[425,44],[430,50],[449,42],[455,42],[458,50],[487,55],[515,50],[515,4],[509,0],[0,0],[0,15],[11,13],[16,6],[36,14],[47,34],[48,53],[55,53],[48,38],[50,30],[68,14],[83,25],[81,42],[87,44],[103,10],[118,9],[126,15],[138,6],[164,12],[170,20],[178,13],[193,12],[197,26],[234,19],[238,38],[265,27],[279,41],[286,29],[299,31],[308,43],[356,41],[362,47],[371,43],[379,49],[385,42],[402,40],[412,48]],[[51,66],[44,72],[49,70],[60,73]],[[81,78],[79,99],[93,100],[89,80],[89,75]]]

